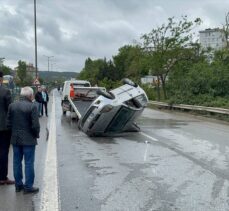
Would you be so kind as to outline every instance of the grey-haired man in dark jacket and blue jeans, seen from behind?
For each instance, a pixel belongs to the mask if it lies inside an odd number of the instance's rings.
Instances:
[[[31,87],[21,89],[18,102],[9,106],[7,127],[11,129],[11,144],[13,145],[13,170],[16,192],[37,193],[39,188],[34,183],[34,158],[37,138],[39,138],[40,124],[37,106],[32,103],[33,90]],[[22,178],[22,160],[25,163],[25,183]]]

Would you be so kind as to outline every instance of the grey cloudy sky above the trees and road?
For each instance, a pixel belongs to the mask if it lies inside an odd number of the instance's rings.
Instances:
[[[0,58],[34,63],[33,0],[0,0]],[[112,58],[125,44],[166,23],[200,17],[221,27],[229,0],[37,0],[38,68],[80,72],[86,58]],[[46,56],[44,56],[46,55]]]

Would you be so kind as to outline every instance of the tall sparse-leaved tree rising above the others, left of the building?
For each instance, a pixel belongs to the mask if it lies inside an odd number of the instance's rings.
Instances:
[[[186,49],[193,47],[191,31],[200,23],[200,18],[192,22],[188,21],[187,16],[183,16],[177,22],[172,17],[168,19],[167,24],[152,29],[150,33],[141,37],[150,69],[161,82],[165,99],[167,76],[179,61],[190,56],[184,52],[187,53]]]

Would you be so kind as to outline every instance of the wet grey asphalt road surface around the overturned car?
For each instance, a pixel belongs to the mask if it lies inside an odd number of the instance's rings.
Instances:
[[[229,210],[228,124],[145,109],[139,119],[141,133],[90,138],[69,115],[61,115],[60,96],[54,94],[59,210]],[[25,196],[2,186],[1,211],[45,210],[49,198],[41,195],[49,190],[44,171],[52,171],[44,168],[49,122],[41,118],[36,156],[40,193]]]

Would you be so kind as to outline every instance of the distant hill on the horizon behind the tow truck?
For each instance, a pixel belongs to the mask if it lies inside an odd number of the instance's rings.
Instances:
[[[55,72],[55,71],[39,71],[39,77],[44,81],[65,81],[71,78],[76,78],[79,75],[77,72]]]

